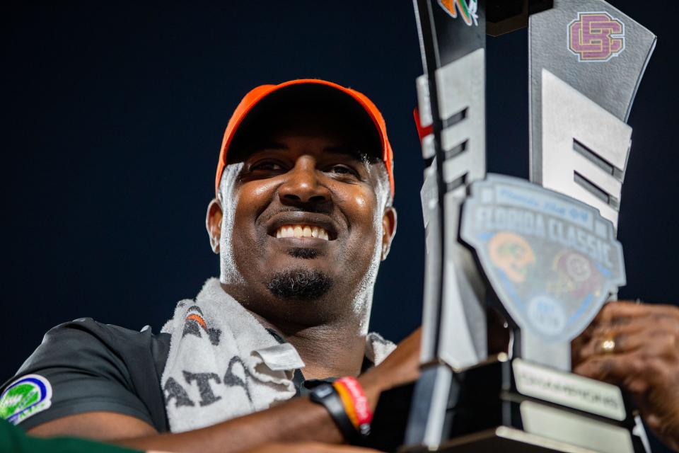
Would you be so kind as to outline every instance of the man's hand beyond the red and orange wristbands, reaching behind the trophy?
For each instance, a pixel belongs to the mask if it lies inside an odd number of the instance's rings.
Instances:
[[[359,382],[371,403],[373,411],[380,393],[401,384],[413,382],[419,377],[419,346],[422,328],[407,336],[380,365],[368,369]]]

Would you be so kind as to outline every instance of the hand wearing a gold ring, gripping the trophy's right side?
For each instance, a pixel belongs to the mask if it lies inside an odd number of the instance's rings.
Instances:
[[[606,304],[573,342],[573,370],[629,391],[651,430],[679,451],[679,308]]]

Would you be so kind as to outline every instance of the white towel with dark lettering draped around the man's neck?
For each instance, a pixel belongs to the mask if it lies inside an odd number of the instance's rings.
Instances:
[[[161,386],[170,431],[183,432],[269,408],[295,395],[294,370],[304,366],[294,346],[278,341],[226,294],[205,282],[195,301],[178,302]],[[395,348],[376,333],[366,357],[376,365]]]

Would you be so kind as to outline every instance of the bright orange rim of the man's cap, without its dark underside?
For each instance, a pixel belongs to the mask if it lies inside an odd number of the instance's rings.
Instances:
[[[296,86],[297,89],[303,86],[314,86],[314,87],[327,87],[327,91],[330,93],[344,93],[348,99],[356,102],[360,105],[362,110],[367,114],[367,118],[373,123],[378,137],[381,142],[381,158],[387,167],[387,173],[389,175],[389,184],[391,188],[391,195],[394,195],[394,154],[389,144],[389,139],[387,137],[387,127],[384,122],[384,118],[380,113],[380,110],[376,107],[373,102],[368,99],[363,93],[359,91],[352,90],[352,88],[345,88],[344,86],[333,84],[332,82],[321,80],[321,79],[296,79],[291,81],[286,81],[278,85],[260,85],[253,88],[248,94],[245,95],[242,101],[236,107],[236,110],[231,115],[231,119],[228,120],[228,125],[226,125],[226,131],[224,131],[224,139],[221,141],[221,150],[219,151],[219,162],[217,163],[217,173],[214,179],[214,190],[215,193],[219,191],[219,182],[221,180],[221,174],[224,173],[224,167],[226,166],[226,153],[228,152],[228,147],[233,141],[233,137],[236,136],[238,127],[243,123],[245,117],[253,111],[255,105],[259,104],[262,99],[269,97],[272,93],[281,93],[286,90],[286,88]],[[340,94],[340,96],[343,96]]]

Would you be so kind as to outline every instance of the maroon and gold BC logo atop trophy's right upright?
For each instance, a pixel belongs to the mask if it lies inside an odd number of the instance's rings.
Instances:
[[[608,13],[579,13],[568,25],[568,48],[580,62],[608,62],[625,50],[625,24]]]

